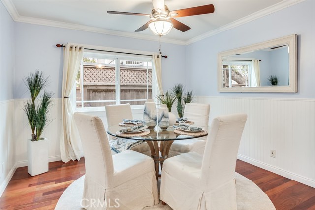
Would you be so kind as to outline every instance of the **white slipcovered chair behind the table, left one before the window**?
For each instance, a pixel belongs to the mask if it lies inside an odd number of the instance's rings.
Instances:
[[[130,104],[107,105],[105,106],[108,127],[118,125],[123,119],[133,119]],[[112,136],[109,137],[113,139]],[[146,142],[135,145],[130,150],[140,152],[151,157],[151,150]]]

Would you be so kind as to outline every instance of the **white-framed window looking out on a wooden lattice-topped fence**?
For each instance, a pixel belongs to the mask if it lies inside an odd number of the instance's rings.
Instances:
[[[152,98],[152,58],[85,52],[76,79],[76,108],[143,105]]]

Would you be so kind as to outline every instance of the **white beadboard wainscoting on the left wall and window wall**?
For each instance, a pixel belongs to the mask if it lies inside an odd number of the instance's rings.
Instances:
[[[1,144],[0,144],[0,196],[11,180],[18,167],[28,165],[27,140],[32,137],[32,131],[23,110],[27,99],[12,99],[1,102]],[[44,130],[45,138],[49,139],[49,162],[59,161],[60,157],[60,129],[61,129],[61,99],[54,98],[50,109],[51,123]],[[107,120],[105,109],[84,112],[99,116],[105,129]],[[142,119],[143,108],[132,109],[133,117]],[[82,151],[83,155],[83,151]],[[3,163],[3,166],[2,166]]]

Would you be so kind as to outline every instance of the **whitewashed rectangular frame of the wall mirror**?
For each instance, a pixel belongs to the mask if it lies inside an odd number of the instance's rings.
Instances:
[[[262,87],[225,87],[223,88],[222,60],[226,56],[242,54],[254,50],[261,50],[269,47],[289,45],[289,86],[262,86]],[[219,92],[297,92],[297,35],[292,34],[278,39],[273,39],[250,46],[221,52],[218,54],[218,91]]]

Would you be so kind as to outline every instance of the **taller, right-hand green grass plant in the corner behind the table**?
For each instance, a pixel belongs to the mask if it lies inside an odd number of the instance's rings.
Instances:
[[[188,90],[187,92],[184,93],[184,85],[182,84],[175,84],[174,87],[172,88],[173,92],[176,95],[176,109],[177,109],[177,114],[178,117],[182,118],[184,114],[184,108],[186,103],[191,103],[194,95],[192,90]]]

